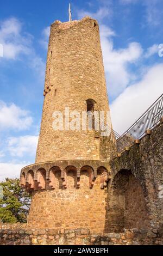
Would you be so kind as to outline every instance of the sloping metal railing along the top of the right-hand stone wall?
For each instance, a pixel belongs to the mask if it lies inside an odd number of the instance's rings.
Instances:
[[[116,147],[118,153],[121,153],[124,148],[129,147],[134,143],[135,139],[140,139],[145,135],[146,130],[153,129],[159,124],[163,117],[163,94],[153,103],[141,117],[116,139]]]

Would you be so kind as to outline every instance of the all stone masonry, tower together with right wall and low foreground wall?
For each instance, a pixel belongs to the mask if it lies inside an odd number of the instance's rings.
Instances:
[[[28,223],[1,224],[1,244],[161,245],[162,121],[121,155],[95,130],[52,127],[65,107],[109,111],[96,20],[52,24],[43,94],[36,160],[21,170]]]

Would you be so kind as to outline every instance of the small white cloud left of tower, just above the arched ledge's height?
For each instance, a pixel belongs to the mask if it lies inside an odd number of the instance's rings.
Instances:
[[[36,153],[38,136],[20,136],[8,138],[7,149],[11,156],[23,157],[24,155],[33,156]]]

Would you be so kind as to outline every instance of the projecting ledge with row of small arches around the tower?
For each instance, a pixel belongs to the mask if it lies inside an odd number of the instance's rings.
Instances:
[[[94,185],[99,172],[101,172],[101,188],[111,178],[108,162],[98,160],[70,160],[35,163],[21,170],[20,186],[29,192],[49,190],[56,188],[55,174],[61,179],[62,188],[67,188],[67,172],[73,170],[76,173],[77,188],[80,187],[80,173],[86,170],[90,176],[90,188]]]

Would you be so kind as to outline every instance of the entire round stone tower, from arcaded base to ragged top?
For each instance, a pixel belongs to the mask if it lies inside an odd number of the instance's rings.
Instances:
[[[109,111],[96,20],[51,25],[41,130],[35,164],[21,170],[32,193],[28,226],[105,228],[105,187],[113,144],[95,130],[55,130],[54,112]],[[69,121],[72,120],[70,115]],[[111,127],[111,121],[110,121]]]

